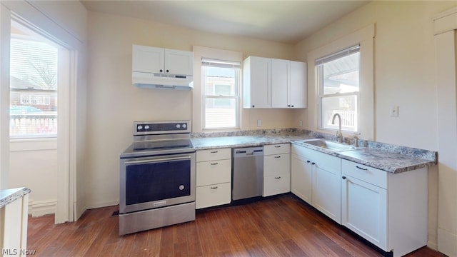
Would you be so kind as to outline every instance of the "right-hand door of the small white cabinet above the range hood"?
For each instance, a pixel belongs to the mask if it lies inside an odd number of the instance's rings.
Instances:
[[[165,49],[164,73],[192,76],[194,74],[194,52]]]

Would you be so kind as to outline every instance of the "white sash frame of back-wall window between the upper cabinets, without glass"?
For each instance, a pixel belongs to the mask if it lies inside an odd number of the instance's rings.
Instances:
[[[212,65],[211,65],[212,64]],[[219,68],[227,69],[237,69],[235,71],[235,85],[233,90],[233,96],[223,96],[216,94],[208,94],[206,87],[206,67],[214,66]],[[216,84],[214,84],[216,86]],[[215,89],[214,89],[215,91]],[[241,101],[241,61],[229,61],[229,60],[219,60],[219,59],[201,59],[201,92],[202,92],[202,109],[201,109],[201,128],[204,131],[221,131],[221,130],[233,130],[240,129],[240,101]],[[235,126],[218,126],[218,127],[207,127],[206,124],[206,101],[208,99],[233,99],[235,101],[234,111],[235,111]]]

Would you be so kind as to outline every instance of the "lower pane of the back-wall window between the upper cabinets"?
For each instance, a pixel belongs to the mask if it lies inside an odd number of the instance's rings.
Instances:
[[[206,99],[206,129],[236,126],[236,99]]]

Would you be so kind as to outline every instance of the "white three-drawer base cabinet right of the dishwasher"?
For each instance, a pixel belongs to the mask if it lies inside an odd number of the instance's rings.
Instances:
[[[291,144],[263,146],[263,193],[273,196],[291,191]]]

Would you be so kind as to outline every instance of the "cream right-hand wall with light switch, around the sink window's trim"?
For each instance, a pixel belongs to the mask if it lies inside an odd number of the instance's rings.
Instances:
[[[375,140],[437,150],[437,102],[433,16],[456,6],[455,1],[372,1],[296,45],[302,60],[313,49],[329,44],[368,24],[374,39]],[[309,67],[312,67],[308,64]],[[398,118],[388,114],[399,106]],[[296,119],[306,121],[316,106]],[[311,124],[308,123],[308,124]],[[315,127],[308,129],[315,130]],[[438,168],[428,172],[428,246],[436,248]]]

